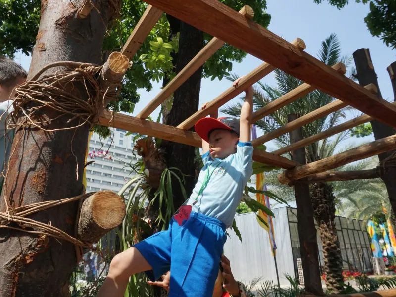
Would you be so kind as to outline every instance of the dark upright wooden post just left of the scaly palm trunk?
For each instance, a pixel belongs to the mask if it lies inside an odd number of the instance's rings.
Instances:
[[[298,118],[297,114],[289,114],[288,122]],[[289,132],[290,142],[301,140],[302,128]],[[306,164],[305,148],[298,148],[292,152],[293,161]],[[318,262],[318,245],[316,242],[316,228],[313,219],[313,209],[309,196],[309,186],[303,183],[295,183],[294,193],[297,205],[297,228],[300,241],[302,269],[304,272],[305,291],[316,295],[323,295],[322,283]]]

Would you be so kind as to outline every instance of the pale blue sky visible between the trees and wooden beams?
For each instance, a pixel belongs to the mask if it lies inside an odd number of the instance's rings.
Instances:
[[[321,42],[331,33],[336,33],[342,48],[342,53],[352,55],[360,48],[369,48],[371,58],[378,76],[381,93],[384,99],[393,100],[391,82],[386,68],[396,60],[396,51],[386,47],[377,37],[372,37],[364,23],[364,17],[369,12],[369,6],[350,1],[345,8],[337,8],[322,3],[317,5],[313,0],[267,0],[267,12],[272,19],[268,27],[269,30],[281,36],[287,41],[292,41],[299,37],[304,40],[307,48],[306,52],[316,56],[320,49]],[[16,61],[20,62],[25,69],[29,68],[30,57],[16,55]],[[234,63],[232,72],[245,75],[257,67],[262,61],[248,55],[242,63]],[[273,75],[264,78],[264,82],[275,84]],[[229,88],[231,83],[225,79],[222,81],[203,79],[200,90],[200,104],[214,99],[224,90]],[[160,91],[159,84],[154,83],[151,92],[139,90],[141,94],[140,102],[136,105],[133,115],[136,115],[155,95]],[[230,103],[236,102],[233,99]],[[157,109],[152,115],[156,118],[159,113]],[[353,112],[347,115],[351,118],[359,115]],[[353,142],[371,141],[372,136],[364,139],[353,139]],[[347,141],[348,143],[351,140]]]

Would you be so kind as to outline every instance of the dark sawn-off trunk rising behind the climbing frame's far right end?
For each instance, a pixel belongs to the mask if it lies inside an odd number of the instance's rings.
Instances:
[[[374,66],[371,61],[370,50],[358,49],[353,53],[353,58],[356,64],[357,79],[359,81],[359,84],[362,86],[374,84],[378,89],[378,97],[382,98],[381,91],[378,86],[377,74],[374,71]],[[393,80],[392,84],[394,85]],[[395,130],[392,127],[385,125],[379,121],[371,121],[371,127],[373,128],[374,138],[376,140],[395,134]],[[385,183],[385,187],[387,188],[389,201],[391,202],[392,210],[394,211],[394,213],[396,213],[395,153],[396,150],[393,150],[378,155],[378,159],[380,160],[378,171],[381,179]]]

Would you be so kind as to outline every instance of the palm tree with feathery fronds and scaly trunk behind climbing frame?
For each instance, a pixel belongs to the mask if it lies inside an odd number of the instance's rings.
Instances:
[[[351,57],[341,56],[340,43],[335,34],[331,34],[322,42],[322,47],[318,56],[319,59],[327,65],[334,65],[337,62],[343,62],[348,67],[352,62]],[[351,71],[353,71],[353,69]],[[231,75],[229,79],[235,80],[236,78],[237,75],[234,74]],[[279,69],[275,70],[275,79],[277,81],[276,87],[269,86],[263,82],[258,82],[258,86],[254,87],[253,103],[255,110],[264,107],[268,103],[294,90],[303,83],[297,78],[280,71]],[[288,114],[298,113],[300,115],[304,115],[334,100],[335,98],[330,95],[316,90],[277,110],[270,116],[257,121],[255,124],[264,132],[270,132],[284,126],[288,122]],[[237,103],[227,106],[221,111],[231,116],[238,116],[240,114],[240,109],[241,104]],[[345,110],[346,108],[338,110],[324,118],[305,125],[303,127],[304,137],[317,134],[333,127],[345,117]],[[332,155],[336,146],[343,141],[348,134],[348,132],[343,132],[334,138],[325,139],[306,147],[307,162],[314,162]],[[279,147],[290,145],[289,135],[285,134],[278,137],[276,139],[276,144]],[[267,181],[274,178],[274,174],[275,172],[270,173]],[[336,226],[334,223],[337,201],[334,195],[333,185],[330,183],[316,183],[312,184],[310,189],[314,215],[318,223],[318,229],[323,245],[325,262],[324,270],[327,274],[327,288],[330,292],[337,293],[342,289],[343,276],[340,244],[337,239]],[[273,184],[271,191],[276,194],[280,194],[279,192],[283,191],[288,193],[289,197],[291,196],[290,194],[293,195],[293,189],[285,190],[285,188],[279,186],[279,184],[278,186]]]

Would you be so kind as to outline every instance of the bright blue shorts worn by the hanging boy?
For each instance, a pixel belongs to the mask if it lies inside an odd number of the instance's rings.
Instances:
[[[155,281],[170,270],[170,297],[212,297],[227,236],[221,221],[191,212],[182,226],[173,218],[169,229],[134,245],[152,267]]]

